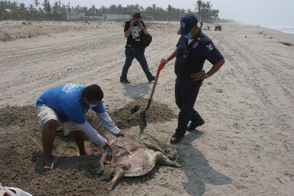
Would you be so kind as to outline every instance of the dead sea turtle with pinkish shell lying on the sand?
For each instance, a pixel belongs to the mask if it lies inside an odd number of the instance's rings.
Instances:
[[[112,190],[123,176],[141,176],[150,172],[155,163],[181,167],[172,161],[176,158],[176,150],[163,150],[134,135],[115,138],[110,141],[110,146],[112,149],[108,148],[102,154],[98,169],[98,173],[103,173],[102,180],[109,180],[113,176],[109,190]]]

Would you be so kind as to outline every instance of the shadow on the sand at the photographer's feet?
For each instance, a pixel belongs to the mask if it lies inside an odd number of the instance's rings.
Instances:
[[[147,92],[150,90],[149,82],[146,83],[139,83],[137,85],[131,85],[123,83],[124,86],[124,95],[128,98],[142,98],[144,97]]]

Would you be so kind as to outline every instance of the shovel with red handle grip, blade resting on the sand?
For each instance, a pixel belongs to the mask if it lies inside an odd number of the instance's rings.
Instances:
[[[146,123],[146,111],[147,111],[147,109],[149,109],[149,106],[150,106],[150,103],[152,101],[152,97],[153,97],[153,94],[154,94],[154,91],[155,91],[155,87],[156,87],[156,84],[157,84],[157,80],[158,80],[158,77],[159,77],[159,73],[163,68],[164,68],[164,61],[161,61],[159,66],[158,66],[158,69],[157,69],[157,73],[156,73],[156,77],[155,77],[155,80],[154,80],[154,83],[153,83],[151,95],[150,95],[149,100],[148,100],[148,105],[147,105],[146,109],[143,112],[140,113],[140,119],[139,119],[140,133],[143,133],[143,130],[147,126],[147,123]]]

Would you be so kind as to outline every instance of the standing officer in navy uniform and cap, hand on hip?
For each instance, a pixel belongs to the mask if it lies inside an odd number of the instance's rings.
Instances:
[[[177,34],[182,35],[176,45],[176,49],[167,59],[168,63],[174,57],[176,74],[175,102],[180,109],[178,125],[172,135],[171,143],[181,141],[186,130],[190,131],[204,124],[204,120],[193,108],[200,86],[204,79],[216,73],[224,64],[224,59],[201,29],[197,26],[198,20],[193,14],[188,14],[181,19],[181,27]],[[209,72],[202,71],[205,60],[213,64]],[[191,123],[188,125],[189,121]],[[188,125],[188,126],[187,126]]]

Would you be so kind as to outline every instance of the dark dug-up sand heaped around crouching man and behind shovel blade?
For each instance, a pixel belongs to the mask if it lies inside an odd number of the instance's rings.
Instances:
[[[137,99],[110,112],[110,116],[123,129],[138,125],[138,114],[132,114],[132,106],[140,105],[142,108],[146,104],[147,99]],[[44,173],[41,127],[37,122],[35,107],[5,106],[0,109],[0,116],[2,185],[21,188],[34,196],[106,195],[107,183],[96,174],[102,148],[86,139],[85,146],[92,154],[79,157],[71,134],[65,137],[63,131],[58,130],[52,150],[55,169]],[[147,123],[163,122],[174,117],[166,105],[152,102],[147,112]],[[87,118],[104,135],[105,129],[98,123],[94,112],[89,112]],[[141,180],[136,181],[140,183]]]

